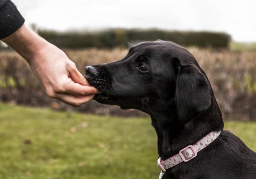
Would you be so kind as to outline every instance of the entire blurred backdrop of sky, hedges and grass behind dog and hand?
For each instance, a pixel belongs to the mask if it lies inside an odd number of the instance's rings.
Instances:
[[[12,1],[25,24],[65,51],[82,74],[87,65],[123,58],[140,41],[186,47],[209,77],[225,128],[256,150],[254,0]],[[158,177],[147,115],[49,98],[26,61],[4,43],[0,121],[1,178]]]

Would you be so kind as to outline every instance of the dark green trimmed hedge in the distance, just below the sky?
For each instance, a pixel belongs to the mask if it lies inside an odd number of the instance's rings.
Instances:
[[[228,49],[231,37],[217,32],[180,32],[157,29],[109,29],[97,32],[65,32],[39,30],[38,34],[60,48],[127,48],[129,44],[157,39],[173,41],[182,46]]]

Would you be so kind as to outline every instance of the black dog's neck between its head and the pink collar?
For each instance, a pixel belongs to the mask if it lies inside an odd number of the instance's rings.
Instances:
[[[196,143],[210,131],[223,129],[221,112],[216,104],[217,102],[186,124],[181,124],[173,111],[151,111],[152,125],[158,137],[158,153],[162,160]]]

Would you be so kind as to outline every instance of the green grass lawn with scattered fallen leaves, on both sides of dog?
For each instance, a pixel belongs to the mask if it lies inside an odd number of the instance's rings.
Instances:
[[[0,178],[158,178],[148,118],[100,117],[0,103]],[[226,128],[256,151],[256,123]]]

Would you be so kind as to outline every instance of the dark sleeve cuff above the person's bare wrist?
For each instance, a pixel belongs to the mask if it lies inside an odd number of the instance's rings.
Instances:
[[[25,19],[10,0],[0,0],[0,39],[18,30]]]

